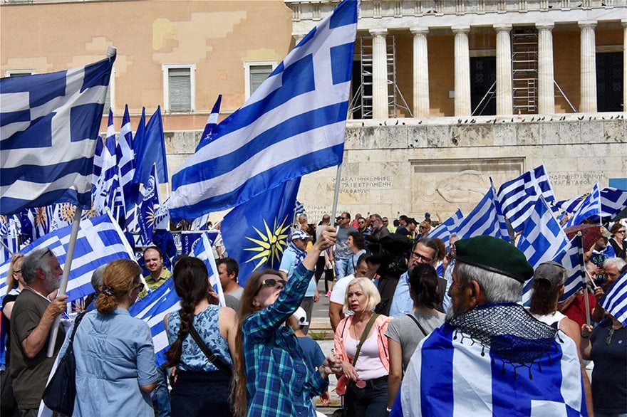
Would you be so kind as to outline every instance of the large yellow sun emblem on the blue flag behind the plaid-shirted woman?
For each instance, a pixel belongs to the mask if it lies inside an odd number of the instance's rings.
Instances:
[[[289,237],[289,223],[287,223],[287,216],[283,219],[281,224],[277,225],[277,220],[274,219],[274,228],[270,229],[268,223],[264,220],[265,233],[259,231],[254,227],[254,230],[259,235],[259,238],[246,237],[252,243],[257,244],[253,248],[246,248],[244,250],[250,250],[256,252],[246,262],[256,262],[253,270],[257,270],[261,265],[269,263],[270,268],[274,268],[274,265],[278,265],[281,262],[281,255],[287,246],[287,238]]]

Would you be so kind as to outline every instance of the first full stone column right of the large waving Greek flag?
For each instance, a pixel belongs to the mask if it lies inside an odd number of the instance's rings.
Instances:
[[[388,63],[385,35],[388,29],[371,29],[373,36],[373,119],[387,119]]]

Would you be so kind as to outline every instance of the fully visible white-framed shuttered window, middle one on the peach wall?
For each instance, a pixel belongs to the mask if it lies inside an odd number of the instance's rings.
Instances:
[[[196,65],[163,65],[165,112],[193,112],[196,95]]]

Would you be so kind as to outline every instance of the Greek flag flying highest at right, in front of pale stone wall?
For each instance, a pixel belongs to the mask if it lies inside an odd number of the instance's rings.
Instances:
[[[499,188],[499,203],[514,231],[522,232],[524,222],[531,216],[538,196],[544,197],[549,205],[555,201],[549,174],[546,174],[544,165],[505,182]]]

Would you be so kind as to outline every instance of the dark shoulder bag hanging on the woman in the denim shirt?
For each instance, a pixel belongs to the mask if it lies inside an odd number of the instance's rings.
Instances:
[[[48,408],[64,416],[71,416],[74,412],[74,400],[76,398],[76,360],[74,359],[74,335],[78,324],[83,319],[85,312],[82,312],[76,320],[68,343],[68,349],[63,357],[58,361],[56,371],[52,376],[46,389],[43,390],[43,403]]]

